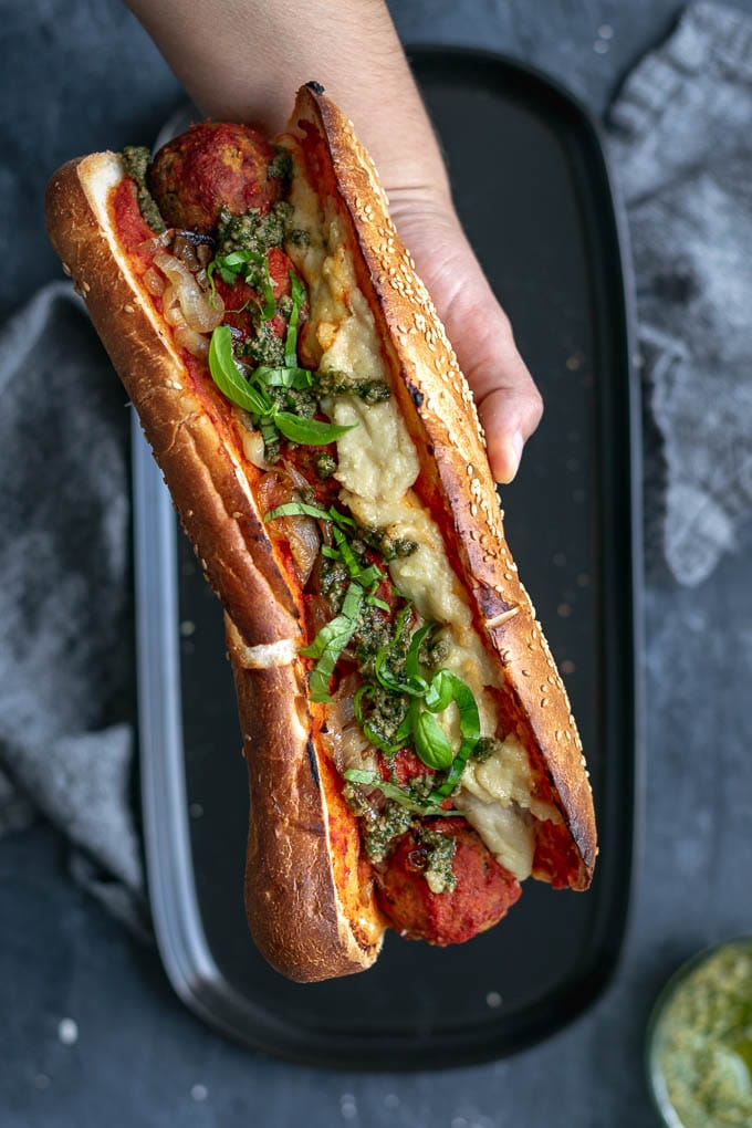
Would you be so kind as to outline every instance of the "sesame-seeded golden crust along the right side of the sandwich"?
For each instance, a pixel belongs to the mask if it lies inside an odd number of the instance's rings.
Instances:
[[[564,684],[504,537],[472,396],[352,123],[310,85],[298,96],[293,121],[300,120],[312,122],[326,140],[339,196],[372,280],[377,324],[396,352],[404,414],[422,440],[418,450],[424,459],[428,444],[435,451],[439,495],[445,502],[443,526],[455,530],[455,547],[479,618],[519,705],[521,735],[542,754],[558,792],[582,858],[573,885],[584,889],[598,847],[582,743]]]

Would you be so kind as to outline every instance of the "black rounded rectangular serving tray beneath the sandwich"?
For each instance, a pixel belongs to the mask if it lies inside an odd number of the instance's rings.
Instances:
[[[267,967],[244,913],[246,768],[220,607],[134,443],[144,831],[165,967],[186,1004],[233,1038],[359,1069],[497,1058],[582,1012],[618,959],[635,841],[639,415],[598,129],[508,60],[409,54],[460,214],[547,404],[504,504],[587,752],[601,839],[592,890],[529,881],[508,919],[469,944],[390,934],[375,968],[346,979],[300,986]]]

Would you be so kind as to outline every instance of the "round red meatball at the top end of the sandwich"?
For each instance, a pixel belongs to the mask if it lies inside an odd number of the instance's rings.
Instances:
[[[202,122],[162,146],[148,185],[170,227],[209,232],[223,206],[233,215],[269,210],[281,192],[268,175],[273,157],[266,138],[247,125]]]

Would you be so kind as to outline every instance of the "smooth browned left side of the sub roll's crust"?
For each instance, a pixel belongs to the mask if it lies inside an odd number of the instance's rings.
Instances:
[[[237,453],[192,390],[112,237],[106,201],[122,175],[114,153],[65,165],[47,190],[47,227],[139,413],[206,576],[232,616],[229,655],[258,816],[249,830],[249,924],[269,963],[292,979],[360,971],[377,958],[384,925],[370,885],[342,874],[339,888],[335,883],[327,797],[308,756],[311,719],[300,659],[247,668],[250,647],[281,643],[284,654],[289,641],[299,642],[298,608]]]

